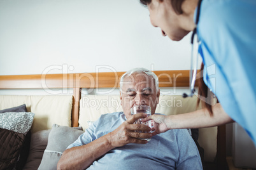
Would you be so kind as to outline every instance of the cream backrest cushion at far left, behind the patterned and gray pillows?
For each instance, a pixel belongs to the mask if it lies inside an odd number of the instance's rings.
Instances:
[[[51,129],[53,124],[71,126],[73,97],[0,95],[0,110],[25,104],[27,112],[33,112],[32,133]]]

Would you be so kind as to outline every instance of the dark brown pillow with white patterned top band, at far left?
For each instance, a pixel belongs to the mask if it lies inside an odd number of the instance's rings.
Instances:
[[[0,114],[0,169],[21,168],[17,163],[33,119],[34,114],[29,112]]]

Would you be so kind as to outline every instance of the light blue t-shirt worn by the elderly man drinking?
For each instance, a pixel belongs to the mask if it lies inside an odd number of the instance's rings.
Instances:
[[[104,114],[68,148],[86,145],[126,121],[124,112]],[[86,154],[86,153],[85,153]],[[157,134],[145,145],[129,143],[110,150],[88,169],[203,169],[196,144],[187,129]]]

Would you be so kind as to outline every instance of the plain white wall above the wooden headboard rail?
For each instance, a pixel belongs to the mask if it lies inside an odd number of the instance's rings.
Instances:
[[[190,69],[139,0],[0,0],[0,75]]]

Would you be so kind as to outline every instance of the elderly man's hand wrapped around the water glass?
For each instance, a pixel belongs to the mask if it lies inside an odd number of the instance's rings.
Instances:
[[[144,124],[133,124],[137,119],[146,117],[146,114],[132,115],[123,122],[117,129],[109,133],[112,147],[122,147],[128,143],[145,144],[148,141],[138,138],[151,138],[152,133],[139,133],[138,131],[151,131],[151,128]]]

